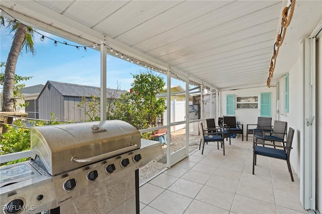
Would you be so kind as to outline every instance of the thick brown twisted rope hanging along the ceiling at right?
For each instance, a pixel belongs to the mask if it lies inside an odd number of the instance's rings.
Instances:
[[[277,35],[276,42],[274,44],[274,52],[273,52],[273,56],[271,59],[270,69],[269,69],[269,73],[268,73],[268,77],[267,77],[267,86],[268,87],[271,87],[271,78],[273,78],[273,73],[275,70],[276,58],[278,55],[278,51],[279,51],[280,46],[283,44],[286,29],[292,20],[294,8],[295,8],[295,0],[291,0],[291,4],[288,7],[285,7],[282,12],[281,32]]]

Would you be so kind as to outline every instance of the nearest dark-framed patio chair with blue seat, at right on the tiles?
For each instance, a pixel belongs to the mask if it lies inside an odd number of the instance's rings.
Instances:
[[[287,134],[287,139],[284,143],[286,143],[286,146],[281,146],[281,145],[274,145],[274,148],[271,147],[262,147],[258,146],[257,144],[265,144],[264,142],[254,142],[254,150],[253,150],[253,175],[255,171],[255,165],[256,165],[256,157],[257,155],[262,155],[270,158],[278,158],[282,160],[286,160],[287,162],[287,167],[288,171],[291,174],[291,180],[294,181],[293,174],[292,174],[292,169],[290,165],[290,152],[292,149],[292,141],[293,141],[293,136],[294,136],[294,129],[289,128],[288,129],[288,134]],[[267,144],[265,144],[267,145]],[[276,149],[275,147],[283,148],[283,149]]]

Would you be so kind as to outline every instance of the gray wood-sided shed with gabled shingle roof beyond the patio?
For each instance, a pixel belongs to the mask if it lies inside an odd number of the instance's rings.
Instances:
[[[124,90],[107,89],[107,98],[119,98]],[[47,81],[45,87],[38,96],[39,100],[39,119],[49,120],[51,113],[58,121],[87,121],[83,110],[77,107],[86,97],[88,100],[91,95],[99,96],[100,88],[88,85],[78,85],[64,82]]]

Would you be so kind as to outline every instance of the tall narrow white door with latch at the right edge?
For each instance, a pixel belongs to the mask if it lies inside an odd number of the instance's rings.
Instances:
[[[315,210],[315,38],[302,41],[303,139],[301,144],[300,199],[304,209]]]

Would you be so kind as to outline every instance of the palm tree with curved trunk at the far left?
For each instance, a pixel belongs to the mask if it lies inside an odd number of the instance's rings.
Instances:
[[[4,88],[3,88],[3,112],[13,112],[14,111],[14,88],[15,88],[15,72],[18,56],[22,49],[25,48],[26,53],[29,51],[34,55],[34,41],[33,41],[33,30],[31,27],[27,27],[22,23],[16,22],[16,20],[8,20],[4,17],[0,17],[1,27],[11,28],[11,32],[15,32],[14,40],[7,58],[5,78],[4,78]]]

